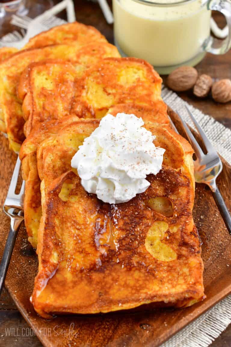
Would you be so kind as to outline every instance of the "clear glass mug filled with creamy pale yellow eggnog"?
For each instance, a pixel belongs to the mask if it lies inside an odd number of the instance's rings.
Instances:
[[[210,36],[211,10],[220,11],[228,36]],[[160,74],[194,66],[206,52],[224,54],[231,46],[230,0],[113,0],[114,37],[122,56],[145,59]]]

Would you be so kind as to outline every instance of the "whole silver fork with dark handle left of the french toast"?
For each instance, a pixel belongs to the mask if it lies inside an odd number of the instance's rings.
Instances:
[[[15,194],[20,166],[21,166],[21,162],[18,157],[15,164],[15,169],[10,181],[8,194],[7,194],[5,203],[3,205],[3,211],[10,217],[10,231],[7,237],[7,242],[4,248],[2,261],[0,264],[0,295],[1,295],[2,287],[3,287],[3,283],[5,281],[5,277],[7,274],[7,269],[10,263],[10,258],[14,249],[15,240],[18,234],[18,228],[21,222],[24,220],[23,200],[24,200],[25,181],[23,181],[21,185],[19,194]]]

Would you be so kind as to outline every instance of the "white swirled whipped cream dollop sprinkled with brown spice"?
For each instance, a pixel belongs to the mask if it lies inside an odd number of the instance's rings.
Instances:
[[[107,203],[117,204],[143,193],[149,174],[158,174],[164,149],[156,147],[156,136],[146,130],[142,118],[125,113],[107,114],[71,160],[81,184]]]

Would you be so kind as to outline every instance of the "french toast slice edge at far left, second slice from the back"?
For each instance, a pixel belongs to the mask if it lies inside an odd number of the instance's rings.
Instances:
[[[2,112],[1,128],[9,138],[9,146],[15,152],[20,149],[24,141],[24,123],[21,100],[18,95],[20,76],[24,69],[32,62],[44,59],[61,59],[80,65],[88,66],[92,61],[103,57],[119,57],[115,46],[107,42],[91,43],[86,46],[78,41],[74,44],[54,45],[44,48],[20,51],[0,64],[0,102]]]

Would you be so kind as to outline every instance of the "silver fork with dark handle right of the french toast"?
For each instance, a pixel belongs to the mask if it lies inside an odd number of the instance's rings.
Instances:
[[[205,183],[207,184],[213,194],[214,200],[216,202],[216,205],[221,213],[221,216],[225,222],[226,228],[229,231],[229,234],[231,235],[231,216],[230,213],[225,205],[225,202],[223,200],[223,197],[219,191],[219,188],[216,185],[216,178],[222,171],[222,162],[215,151],[213,145],[208,140],[207,136],[205,135],[204,131],[202,130],[201,126],[198,124],[196,119],[194,118],[192,112],[188,109],[188,107],[185,105],[185,108],[192,119],[195,127],[197,128],[197,131],[199,135],[202,138],[203,144],[205,146],[205,149],[207,151],[206,154],[202,151],[201,147],[199,146],[198,142],[196,141],[193,133],[188,128],[185,121],[182,119],[180,114],[178,113],[178,116],[181,120],[181,123],[186,131],[187,137],[195,151],[196,160],[194,160],[194,177],[195,181],[197,183]]]

